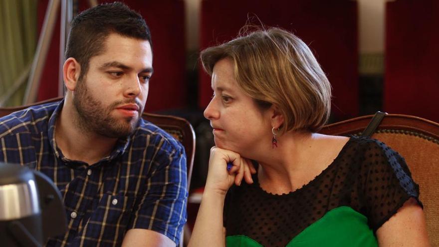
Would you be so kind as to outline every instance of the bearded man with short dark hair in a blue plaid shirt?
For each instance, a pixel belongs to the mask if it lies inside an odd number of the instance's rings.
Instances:
[[[182,145],[141,114],[151,35],[120,2],[78,14],[65,98],[0,118],[0,161],[34,168],[64,200],[68,232],[47,246],[175,246],[186,221]]]

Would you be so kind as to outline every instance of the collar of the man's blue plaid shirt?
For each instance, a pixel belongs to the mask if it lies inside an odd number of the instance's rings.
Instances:
[[[48,123],[47,136],[49,138],[49,143],[50,143],[50,146],[51,146],[52,151],[55,154],[55,156],[60,158],[63,161],[68,162],[69,160],[64,157],[61,150],[56,146],[56,141],[55,141],[56,119],[58,118],[58,115],[61,112],[63,105],[64,105],[64,99],[59,101],[59,104],[56,106],[55,110],[53,111],[52,115],[50,116],[49,123]],[[112,161],[112,160],[116,159],[117,157],[121,156],[128,149],[130,141],[131,141],[131,136],[119,138],[117,140],[116,145],[114,146],[113,150],[111,151],[110,155],[102,158],[98,162],[98,164],[104,163],[103,161],[106,161],[106,162]],[[90,165],[92,165],[92,164],[90,164]]]

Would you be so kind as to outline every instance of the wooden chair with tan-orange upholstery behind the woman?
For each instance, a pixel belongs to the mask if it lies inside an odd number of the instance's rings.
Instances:
[[[329,124],[320,133],[362,135],[373,116]],[[420,186],[430,243],[439,247],[439,124],[415,116],[388,114],[372,138],[386,143],[406,159]]]

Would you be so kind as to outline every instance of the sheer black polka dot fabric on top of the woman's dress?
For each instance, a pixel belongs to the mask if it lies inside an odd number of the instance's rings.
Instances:
[[[257,174],[253,180],[251,185],[242,183],[228,191],[224,227],[226,236],[245,235],[265,247],[285,247],[328,211],[341,206],[366,216],[375,232],[408,199],[419,196],[404,158],[366,137],[351,136],[328,168],[289,194],[267,193],[260,188]]]

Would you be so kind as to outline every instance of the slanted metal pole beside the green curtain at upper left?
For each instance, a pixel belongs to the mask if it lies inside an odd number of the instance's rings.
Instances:
[[[50,41],[53,34],[53,27],[55,26],[57,18],[59,2],[60,0],[50,0],[49,4],[47,5],[43,27],[39,35],[35,56],[33,57],[32,67],[30,69],[30,76],[27,80],[27,87],[23,98],[23,104],[30,104],[36,101],[39,81],[41,79],[44,62],[47,57],[47,51],[49,49]]]

